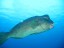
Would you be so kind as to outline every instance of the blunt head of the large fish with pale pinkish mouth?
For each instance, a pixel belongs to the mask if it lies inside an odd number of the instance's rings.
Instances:
[[[50,19],[48,15],[41,16],[40,23],[44,30],[49,30],[54,27],[54,22]]]

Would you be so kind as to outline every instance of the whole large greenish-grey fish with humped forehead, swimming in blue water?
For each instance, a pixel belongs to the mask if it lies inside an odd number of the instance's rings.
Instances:
[[[0,32],[0,44],[9,38],[24,38],[31,34],[45,32],[53,28],[49,15],[33,16],[15,25],[10,32]]]

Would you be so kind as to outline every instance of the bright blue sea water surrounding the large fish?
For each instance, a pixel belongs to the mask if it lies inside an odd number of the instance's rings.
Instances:
[[[0,32],[44,14],[54,21],[54,28],[23,39],[9,38],[0,48],[64,48],[64,0],[0,0]]]

